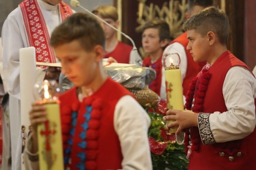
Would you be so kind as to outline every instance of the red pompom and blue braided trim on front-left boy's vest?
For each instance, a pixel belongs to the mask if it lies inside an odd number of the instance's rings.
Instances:
[[[80,142],[77,144],[79,153],[76,153],[78,164],[75,167],[79,170],[97,170],[96,158],[98,154],[98,129],[101,118],[102,107],[99,99],[87,97],[83,100],[82,105],[85,107],[83,113],[82,131],[79,132]],[[73,137],[77,131],[77,118],[79,111],[79,103],[74,103],[71,108],[66,109],[62,115],[62,131],[64,143],[64,166],[71,168],[71,148],[73,145]],[[75,130],[76,129],[76,130]]]

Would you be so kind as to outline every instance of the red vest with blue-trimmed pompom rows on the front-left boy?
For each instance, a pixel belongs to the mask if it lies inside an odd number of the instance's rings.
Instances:
[[[114,130],[114,111],[124,95],[133,96],[125,87],[108,78],[82,103],[77,99],[75,87],[60,96],[64,162],[71,158],[71,164],[65,164],[65,167],[71,170],[122,169],[123,156]],[[72,122],[75,113],[76,122]],[[87,128],[86,132],[84,128]]]

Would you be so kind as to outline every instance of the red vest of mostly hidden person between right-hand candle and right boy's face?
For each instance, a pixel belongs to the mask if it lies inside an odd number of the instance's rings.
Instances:
[[[189,44],[188,38],[187,38],[187,32],[184,32],[180,36],[178,36],[176,39],[174,39],[170,44],[178,42],[183,45],[186,56],[187,56],[187,72],[186,76],[183,80],[183,95],[187,94],[187,91],[189,90],[189,85],[192,82],[192,79],[197,75],[199,71],[203,68],[203,66],[206,64],[206,62],[195,62],[193,60],[193,57],[190,53],[190,51],[187,50],[187,46]],[[170,45],[169,44],[169,45]]]

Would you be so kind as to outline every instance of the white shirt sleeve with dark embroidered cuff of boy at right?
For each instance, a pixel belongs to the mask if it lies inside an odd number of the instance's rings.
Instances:
[[[212,143],[243,139],[256,126],[256,79],[251,72],[240,66],[230,68],[224,80],[223,95],[227,112],[199,113],[206,114],[202,117],[209,116],[209,121],[205,118],[204,124],[210,127]],[[199,128],[199,132],[203,139],[205,131]],[[202,142],[205,143],[204,140]]]

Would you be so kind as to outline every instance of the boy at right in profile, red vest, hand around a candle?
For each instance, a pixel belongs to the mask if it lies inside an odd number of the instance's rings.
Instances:
[[[194,61],[208,62],[192,80],[186,110],[169,110],[166,127],[186,131],[189,170],[251,170],[256,167],[256,79],[226,47],[229,22],[209,7],[184,24]]]

